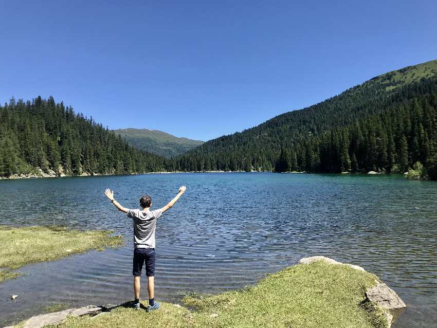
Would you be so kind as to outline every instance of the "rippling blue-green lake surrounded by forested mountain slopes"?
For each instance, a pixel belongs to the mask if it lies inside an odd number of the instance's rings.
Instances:
[[[360,265],[407,304],[393,327],[437,322],[437,183],[388,175],[180,173],[0,180],[0,224],[110,229],[126,246],[23,267],[0,284],[0,326],[43,307],[132,299],[132,221],[108,201],[152,209],[188,190],[158,220],[156,298],[256,283],[300,258]],[[25,245],[22,245],[25,247]],[[59,245],[62,247],[62,245]],[[147,299],[145,280],[141,296]],[[9,301],[19,295],[17,302]]]

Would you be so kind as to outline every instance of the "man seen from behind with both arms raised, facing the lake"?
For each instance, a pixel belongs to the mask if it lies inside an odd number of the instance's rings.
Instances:
[[[105,190],[105,195],[117,207],[119,211],[128,213],[128,217],[134,222],[134,263],[132,275],[134,276],[134,307],[140,309],[140,277],[141,269],[145,263],[145,275],[148,278],[149,306],[147,311],[158,309],[160,304],[155,301],[154,277],[155,277],[155,230],[156,220],[162,213],[170,209],[179,197],[184,194],[187,187],[182,186],[172,201],[163,208],[151,211],[152,199],[149,195],[140,198],[140,209],[128,209],[121,206],[114,199],[114,191]]]

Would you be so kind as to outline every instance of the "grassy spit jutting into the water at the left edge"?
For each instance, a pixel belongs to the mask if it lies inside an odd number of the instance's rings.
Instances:
[[[20,275],[14,270],[30,263],[53,261],[90,249],[103,250],[122,245],[121,236],[111,236],[112,233],[54,226],[0,226],[0,282]]]

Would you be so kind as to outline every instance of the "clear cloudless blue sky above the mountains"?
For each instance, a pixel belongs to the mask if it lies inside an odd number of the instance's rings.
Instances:
[[[208,140],[437,59],[437,2],[0,0],[0,101]]]

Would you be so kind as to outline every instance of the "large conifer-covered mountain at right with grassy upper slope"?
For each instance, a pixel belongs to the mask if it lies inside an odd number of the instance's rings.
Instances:
[[[436,77],[435,60],[391,71],[303,110],[207,141],[170,165],[186,171],[403,172],[422,160],[431,168]],[[281,149],[287,168],[279,160]]]

